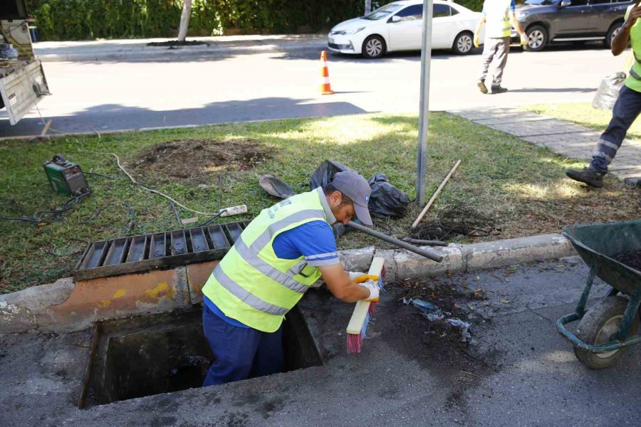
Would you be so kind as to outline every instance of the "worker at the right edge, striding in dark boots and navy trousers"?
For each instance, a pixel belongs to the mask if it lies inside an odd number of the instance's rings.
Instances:
[[[608,173],[608,165],[617,155],[627,130],[637,120],[641,112],[641,6],[637,0],[625,11],[625,22],[610,46],[614,56],[620,55],[628,43],[632,44],[635,60],[627,73],[625,85],[619,91],[619,97],[612,110],[612,119],[603,132],[592,154],[592,162],[583,169],[568,169],[566,175],[575,181],[600,188],[603,176]]]

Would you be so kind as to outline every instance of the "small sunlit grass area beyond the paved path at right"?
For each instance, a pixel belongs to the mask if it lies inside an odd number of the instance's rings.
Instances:
[[[608,123],[610,123],[610,119],[612,118],[612,111],[593,108],[589,102],[528,105],[525,108],[531,112],[556,117],[561,120],[568,120],[568,122],[574,122],[577,125],[591,127],[598,132],[603,132],[605,128],[608,127]],[[627,138],[641,142],[641,120],[637,120],[632,124],[630,130],[627,132]]]

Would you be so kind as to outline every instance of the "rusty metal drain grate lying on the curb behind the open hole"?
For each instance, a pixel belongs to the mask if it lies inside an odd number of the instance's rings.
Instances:
[[[75,265],[73,278],[88,280],[219,260],[248,223],[182,228],[90,243]]]

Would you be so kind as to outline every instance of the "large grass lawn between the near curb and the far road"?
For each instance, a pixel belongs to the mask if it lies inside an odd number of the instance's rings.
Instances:
[[[600,191],[576,184],[566,179],[563,171],[580,166],[580,162],[510,135],[446,113],[432,113],[429,138],[428,197],[457,159],[462,159],[462,164],[425,221],[433,221],[444,206],[464,202],[496,218],[496,231],[476,241],[553,233],[569,223],[638,217],[638,191],[623,189],[620,181],[609,176]],[[214,149],[230,141],[224,155]],[[135,211],[128,236],[179,227],[170,204],[131,184],[107,153],[118,154],[136,179],[192,209],[212,212],[238,204],[249,207],[246,216],[219,221],[225,222],[252,218],[275,203],[258,185],[261,174],[276,174],[302,192],[308,189],[311,173],[325,159],[352,167],[366,178],[383,172],[415,199],[416,147],[417,117],[410,115],[277,120],[59,137],[43,143],[0,142],[0,216],[31,216],[65,203],[66,198],[53,193],[42,168],[53,154],[78,162],[85,172],[112,178],[88,175],[93,194],[71,209],[63,221],[41,226],[1,221],[0,292],[71,275],[78,252],[88,242],[123,236],[129,222],[123,201]],[[90,219],[98,209],[102,209],[100,214]],[[407,236],[419,210],[412,202],[405,218],[378,220],[377,228],[397,237]],[[182,209],[179,213],[182,218],[194,216]],[[206,218],[199,215],[199,221]],[[386,247],[381,243],[349,233],[340,239],[339,248]]]

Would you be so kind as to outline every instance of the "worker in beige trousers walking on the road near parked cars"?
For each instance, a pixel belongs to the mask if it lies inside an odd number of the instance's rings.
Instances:
[[[481,28],[484,23],[486,24],[481,75],[476,82],[481,93],[488,93],[485,79],[489,65],[493,61],[495,65],[494,73],[492,73],[491,93],[507,92],[507,89],[501,86],[501,81],[510,51],[510,22],[521,36],[521,45],[528,43],[528,38],[514,15],[514,7],[514,0],[485,0],[483,3],[481,19],[479,19],[476,31],[474,31],[474,46],[478,48]]]

